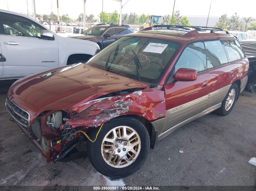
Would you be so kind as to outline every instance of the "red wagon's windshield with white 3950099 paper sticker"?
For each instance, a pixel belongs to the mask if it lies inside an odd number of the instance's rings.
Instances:
[[[178,43],[146,37],[122,37],[86,64],[127,78],[157,84]]]

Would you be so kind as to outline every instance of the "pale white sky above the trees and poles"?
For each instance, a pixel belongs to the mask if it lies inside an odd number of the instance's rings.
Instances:
[[[127,0],[123,0],[125,4]],[[18,13],[32,13],[32,0],[0,0],[0,9]],[[211,0],[176,0],[175,10],[179,9],[183,16],[207,16]],[[128,0],[123,6],[122,13],[135,12],[140,15],[172,14],[174,0]],[[8,4],[8,7],[7,7]],[[35,0],[37,14],[50,14],[52,11],[57,14],[57,0]],[[114,0],[104,0],[103,11],[111,13],[120,10],[120,3]],[[212,0],[210,17],[220,17],[221,14],[232,16],[237,12],[240,18],[256,18],[256,0]],[[102,0],[86,0],[86,14],[97,15],[102,10]],[[59,14],[68,14],[71,18],[77,18],[83,11],[83,0],[59,0]]]

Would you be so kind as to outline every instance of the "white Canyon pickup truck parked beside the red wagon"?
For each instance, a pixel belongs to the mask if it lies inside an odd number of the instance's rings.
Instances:
[[[61,37],[30,17],[0,9],[0,80],[87,61],[99,50],[94,42]]]

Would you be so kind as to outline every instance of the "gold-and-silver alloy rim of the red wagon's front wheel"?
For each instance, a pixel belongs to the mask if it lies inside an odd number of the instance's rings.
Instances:
[[[140,149],[141,140],[138,133],[131,127],[118,126],[104,137],[101,155],[108,165],[123,168],[135,161]]]

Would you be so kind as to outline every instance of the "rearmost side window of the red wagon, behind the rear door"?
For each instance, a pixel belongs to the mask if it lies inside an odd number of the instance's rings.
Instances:
[[[222,40],[221,42],[227,51],[228,62],[233,62],[245,57],[241,45],[237,40]]]

